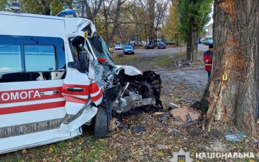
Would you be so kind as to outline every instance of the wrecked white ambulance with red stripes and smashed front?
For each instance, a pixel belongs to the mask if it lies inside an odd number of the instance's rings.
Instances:
[[[134,109],[163,109],[161,78],[116,66],[92,21],[0,11],[0,154],[82,135]]]

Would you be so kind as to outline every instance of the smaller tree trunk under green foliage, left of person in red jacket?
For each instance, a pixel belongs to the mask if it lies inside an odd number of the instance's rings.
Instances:
[[[198,49],[198,30],[194,28],[194,18],[190,18],[190,30],[187,40],[187,60],[196,61],[197,59],[197,49]]]

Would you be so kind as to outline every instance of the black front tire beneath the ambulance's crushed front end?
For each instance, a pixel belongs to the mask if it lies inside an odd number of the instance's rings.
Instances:
[[[103,106],[99,106],[95,116],[95,138],[105,138],[108,133],[108,114]]]

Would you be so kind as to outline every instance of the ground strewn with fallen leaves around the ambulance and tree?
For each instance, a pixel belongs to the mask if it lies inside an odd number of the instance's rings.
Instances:
[[[168,108],[170,103],[190,106],[195,100],[200,99],[203,90],[195,88],[198,85],[172,81],[168,77],[163,78],[163,76],[166,76],[166,72],[172,71],[202,71],[204,70],[201,69],[202,61],[196,62],[191,67],[177,67],[173,62],[184,59],[184,53],[152,57],[119,56],[121,55],[112,54],[117,65],[133,65],[143,71],[163,71],[161,74],[163,80],[161,100],[165,108]],[[199,58],[201,57],[202,53],[199,54]],[[206,80],[205,75],[203,77]],[[206,83],[204,81],[204,87]],[[256,158],[196,159],[195,155],[199,152],[253,152],[256,156],[258,150],[254,139],[258,137],[246,137],[240,142],[229,142],[224,138],[222,132],[203,131],[201,122],[186,129],[180,125],[183,122],[175,119],[170,113],[167,113],[168,120],[165,122],[159,122],[158,118],[159,116],[147,113],[126,116],[120,121],[122,125],[143,125],[146,126],[146,130],[136,132],[132,129],[114,129],[109,133],[110,136],[105,139],[94,139],[92,127],[84,126],[83,135],[78,138],[2,154],[0,161],[167,161],[173,157],[173,152],[178,152],[180,148],[189,151],[190,157],[195,161],[258,161]],[[170,129],[179,131],[169,132]],[[158,147],[159,144],[161,146]]]

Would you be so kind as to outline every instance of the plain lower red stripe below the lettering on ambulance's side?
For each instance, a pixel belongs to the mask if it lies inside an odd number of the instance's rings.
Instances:
[[[0,108],[0,115],[22,113],[27,111],[53,109],[57,107],[64,107],[66,101],[50,102],[50,103],[39,103],[33,105],[13,106]]]

